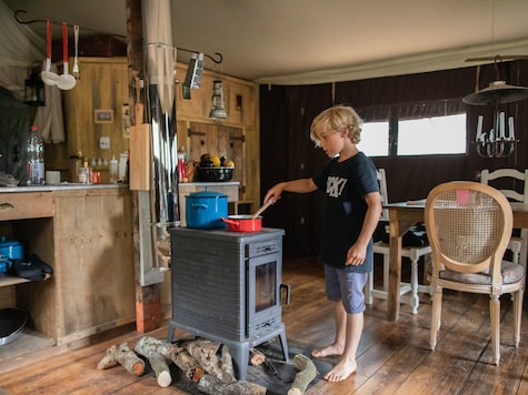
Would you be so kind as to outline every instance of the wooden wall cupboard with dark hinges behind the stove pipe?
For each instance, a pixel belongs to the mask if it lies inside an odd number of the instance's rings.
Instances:
[[[186,71],[187,65],[178,64],[180,81]],[[186,148],[188,160],[198,162],[203,153],[232,160],[233,181],[240,183],[240,202],[248,203],[253,210],[260,205],[258,84],[225,77],[222,84],[228,118],[211,120],[212,80],[212,73],[206,70],[201,88],[191,90],[190,100],[182,98],[181,89],[177,90],[178,145]]]

